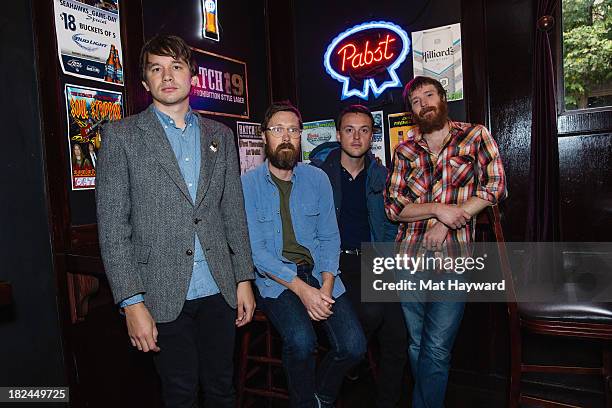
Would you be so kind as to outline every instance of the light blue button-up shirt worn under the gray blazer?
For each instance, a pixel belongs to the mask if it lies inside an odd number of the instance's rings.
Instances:
[[[170,146],[172,146],[172,151],[178,162],[181,174],[187,184],[189,195],[193,202],[195,202],[201,162],[198,117],[189,109],[189,112],[185,115],[185,128],[181,129],[176,126],[170,116],[157,109],[155,113],[164,128],[164,132],[166,132]],[[193,272],[189,282],[189,289],[187,290],[187,300],[219,293],[219,287],[210,273],[210,268],[208,267],[208,262],[206,262],[202,244],[200,244],[197,234],[194,241]],[[137,294],[121,302],[120,306],[125,307],[142,301],[144,301],[143,295]]]

